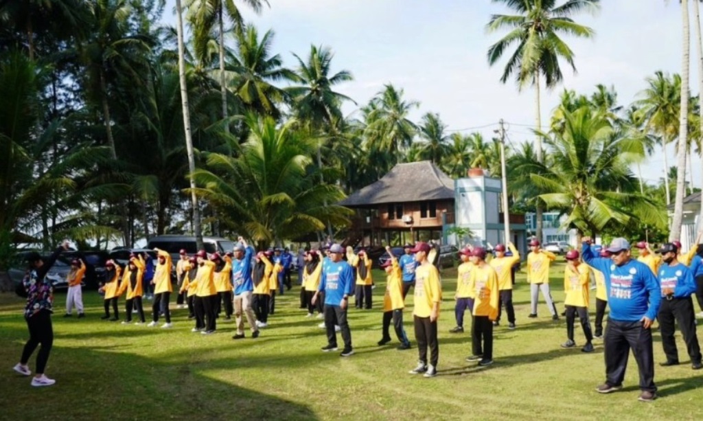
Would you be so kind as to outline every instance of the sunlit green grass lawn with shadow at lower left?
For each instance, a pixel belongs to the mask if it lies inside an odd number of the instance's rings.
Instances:
[[[562,268],[556,264],[552,270],[553,297],[560,311]],[[297,287],[277,297],[276,314],[259,339],[240,341],[231,339],[233,323],[219,323],[216,335],[191,333],[187,310],[172,310],[172,330],[100,320],[102,299],[96,292],[84,294],[87,318],[63,318],[65,294],[56,294],[55,339],[46,373],[57,382],[46,388],[30,387],[29,378],[12,370],[28,335],[23,302],[0,295],[4,361],[0,419],[700,420],[703,416],[703,376],[690,369],[680,335],[680,358],[686,363],[660,368],[664,355],[655,334],[657,401],[637,401],[633,358],[625,389],[600,395],[594,389],[604,380],[601,342],[595,342],[593,354],[560,348],[566,337],[563,318],[553,323],[543,303],[539,318],[527,318],[529,288],[524,274],[518,277],[515,292],[518,328],[508,331],[503,323],[496,329],[496,363],[479,369],[464,361],[470,354],[468,329],[462,335],[448,332],[455,325],[456,270],[444,271],[439,375],[433,379],[408,375],[417,361],[411,297],[406,330],[413,349],[397,351],[396,342],[377,346],[385,276],[380,271],[374,276],[375,309],[349,311],[356,351],[350,358],[320,351],[326,344],[324,330],[317,327],[320,320],[304,318],[305,311],[297,308]],[[123,306],[121,300],[122,318]],[[583,344],[578,325],[576,343]]]

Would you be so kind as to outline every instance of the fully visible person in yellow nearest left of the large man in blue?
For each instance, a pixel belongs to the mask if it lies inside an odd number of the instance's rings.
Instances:
[[[591,270],[587,264],[579,261],[579,250],[569,250],[566,254],[567,267],[564,268],[564,292],[566,298],[564,304],[567,307],[567,342],[562,344],[562,348],[573,348],[574,342],[574,321],[576,314],[579,315],[583,335],[586,335],[586,345],[581,348],[582,352],[593,352],[593,332],[591,331],[591,320],[588,320],[588,287],[591,280]]]

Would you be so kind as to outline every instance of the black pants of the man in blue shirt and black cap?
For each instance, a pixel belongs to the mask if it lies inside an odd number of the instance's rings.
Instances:
[[[678,361],[678,350],[676,349],[676,339],[673,333],[676,332],[676,324],[681,329],[683,341],[686,343],[688,356],[692,363],[701,361],[701,349],[696,335],[696,317],[693,313],[693,300],[691,297],[662,299],[659,307],[659,332],[662,333],[662,346],[668,361]],[[676,322],[676,323],[675,323]]]

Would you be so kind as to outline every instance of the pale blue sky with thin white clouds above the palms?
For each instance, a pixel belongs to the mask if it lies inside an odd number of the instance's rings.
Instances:
[[[164,21],[172,24],[174,0]],[[489,67],[486,51],[501,34],[486,34],[491,14],[506,10],[489,0],[270,0],[259,16],[246,6],[243,13],[260,32],[273,29],[273,50],[285,65],[295,66],[292,52],[304,58],[310,45],[330,46],[333,71],[349,70],[354,82],[338,91],[365,104],[384,84],[405,90],[420,102],[413,112],[439,112],[449,130],[482,127],[490,138],[499,119],[508,122],[512,144],[531,139],[535,124],[534,90],[522,92],[514,83],[501,84],[502,65]],[[678,1],[602,0],[600,13],[576,20],[596,32],[593,40],[565,37],[576,54],[576,75],[562,65],[565,80],[543,92],[542,121],[548,122],[562,89],[591,93],[596,84],[614,85],[621,105],[636,99],[644,79],[656,70],[681,72],[681,8]],[[692,36],[692,91],[697,92],[695,32]],[[349,103],[344,111],[355,112]],[[493,124],[493,125],[491,125]],[[484,127],[487,126],[488,127]],[[673,146],[669,147],[673,165]],[[694,183],[700,186],[701,165],[695,157]],[[663,176],[664,158],[655,153],[644,178]],[[687,177],[688,179],[688,177]]]

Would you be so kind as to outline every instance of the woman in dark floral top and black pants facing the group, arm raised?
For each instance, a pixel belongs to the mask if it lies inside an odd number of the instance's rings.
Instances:
[[[30,253],[26,260],[30,268],[22,279],[22,287],[27,294],[27,306],[25,306],[25,320],[27,328],[30,330],[30,339],[22,349],[20,362],[13,368],[21,375],[30,376],[32,371],[27,367],[27,362],[41,345],[37,354],[37,373],[32,378],[32,386],[51,386],[56,380],[44,375],[46,362],[49,361],[49,352],[53,345],[53,327],[51,326],[51,313],[53,313],[53,285],[46,280],[46,273],[58,259],[59,254],[68,250],[68,242],[65,241],[58,247],[48,259],[42,259],[39,253]]]

